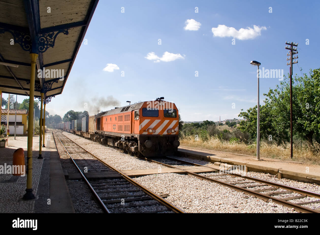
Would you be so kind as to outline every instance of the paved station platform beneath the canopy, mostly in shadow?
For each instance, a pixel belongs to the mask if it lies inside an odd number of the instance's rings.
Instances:
[[[27,136],[9,137],[8,146],[0,148],[0,165],[12,166],[13,152],[23,148],[27,156]],[[27,187],[26,176],[0,174],[0,213],[74,213],[74,207],[64,174],[60,156],[52,132],[46,132],[39,156],[39,136],[33,137],[32,189],[36,196],[23,200]],[[27,162],[26,162],[27,164]]]

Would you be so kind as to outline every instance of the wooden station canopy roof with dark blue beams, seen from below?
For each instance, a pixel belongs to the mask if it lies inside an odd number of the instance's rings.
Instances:
[[[29,54],[36,53],[35,97],[41,91],[45,98],[61,94],[97,4],[98,0],[1,0],[0,90],[29,96]],[[39,69],[45,72],[42,78]]]

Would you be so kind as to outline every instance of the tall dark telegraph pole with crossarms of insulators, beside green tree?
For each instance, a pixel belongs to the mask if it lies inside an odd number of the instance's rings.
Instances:
[[[290,151],[290,157],[293,157],[293,141],[292,141],[292,137],[293,137],[293,133],[292,133],[292,65],[298,63],[298,56],[293,57],[294,54],[298,54],[297,51],[297,46],[298,43],[293,43],[293,42],[285,42],[286,45],[289,46],[285,46],[285,49],[290,50],[289,53],[287,53],[287,56],[290,56],[289,59],[287,57],[287,60],[290,60],[290,62],[287,62],[287,65],[290,65],[290,132],[291,132],[291,143],[290,143],[290,147],[291,147],[291,151]],[[294,48],[295,46],[295,48]],[[293,61],[294,59],[296,59],[296,61]]]

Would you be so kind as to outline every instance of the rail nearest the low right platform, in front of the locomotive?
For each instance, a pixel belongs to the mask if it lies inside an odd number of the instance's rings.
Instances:
[[[215,169],[215,170],[219,170],[221,173],[225,173],[225,174],[228,174],[228,175],[231,175],[231,176],[251,179],[251,180],[254,180],[254,181],[257,181],[257,182],[260,182],[260,183],[269,184],[270,186],[281,187],[281,188],[290,190],[292,192],[304,194],[304,195],[309,196],[309,197],[320,198],[320,193],[316,193],[316,192],[312,192],[312,191],[308,191],[308,190],[304,190],[304,189],[300,189],[300,188],[295,188],[295,187],[292,187],[292,186],[289,186],[289,185],[279,184],[279,183],[276,183],[276,182],[272,182],[272,181],[268,181],[268,180],[264,180],[264,179],[259,179],[259,178],[252,177],[252,176],[245,176],[245,175],[240,175],[240,174],[237,174],[237,173],[230,173],[228,170],[222,170],[220,168],[215,168],[215,167],[211,167],[211,166],[204,166],[204,165],[200,165],[200,164],[197,164],[197,163],[194,163],[194,162],[180,160],[180,159],[173,158],[173,157],[166,157],[166,158],[172,159],[172,160],[177,160],[177,161],[180,161],[182,163],[193,164],[195,166],[202,166],[202,167],[212,168],[212,169]]]

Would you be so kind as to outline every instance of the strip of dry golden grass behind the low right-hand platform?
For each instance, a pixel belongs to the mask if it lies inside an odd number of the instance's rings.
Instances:
[[[195,140],[194,137],[187,136],[180,139],[180,145],[188,147],[203,148],[228,153],[239,153],[256,156],[257,148],[255,144],[246,145],[244,143],[220,141],[217,137],[209,137],[209,140]],[[288,161],[305,162],[309,164],[320,165],[320,154],[314,154],[308,145],[293,145],[293,159],[290,158],[290,143],[286,146],[277,146],[260,142],[260,157],[274,158]]]

